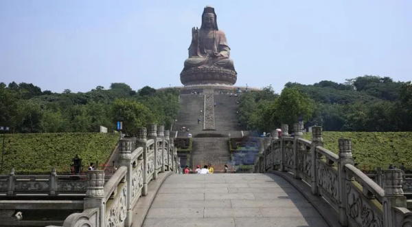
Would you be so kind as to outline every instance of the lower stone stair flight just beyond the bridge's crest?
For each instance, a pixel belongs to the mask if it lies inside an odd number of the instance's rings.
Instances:
[[[211,163],[215,171],[223,171],[225,164],[230,165],[228,138],[193,138],[190,159],[191,166]]]

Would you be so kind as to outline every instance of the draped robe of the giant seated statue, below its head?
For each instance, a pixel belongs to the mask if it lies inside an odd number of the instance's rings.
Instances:
[[[222,56],[210,57],[209,53],[219,53]],[[222,30],[199,30],[197,42],[189,47],[189,58],[185,61],[185,69],[193,67],[220,67],[235,71],[233,61],[229,58],[230,47],[227,44],[225,32]]]

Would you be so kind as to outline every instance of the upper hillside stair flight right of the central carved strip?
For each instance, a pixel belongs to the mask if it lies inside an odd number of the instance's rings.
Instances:
[[[215,125],[217,131],[241,131],[239,116],[236,114],[238,105],[237,97],[228,94],[215,94],[214,101],[217,103],[215,111]]]

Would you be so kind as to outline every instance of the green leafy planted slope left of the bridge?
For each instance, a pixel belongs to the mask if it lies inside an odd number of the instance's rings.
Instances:
[[[78,154],[87,168],[90,162],[104,164],[115,149],[119,134],[115,133],[32,133],[6,134],[4,166],[1,174],[70,173],[70,164]],[[0,149],[3,135],[0,136]]]

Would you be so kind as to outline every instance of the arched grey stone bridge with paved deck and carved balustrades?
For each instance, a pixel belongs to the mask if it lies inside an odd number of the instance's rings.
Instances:
[[[336,155],[322,147],[321,127],[312,128],[312,141],[301,138],[301,124],[294,129],[293,137],[273,132],[255,173],[183,175],[176,174],[180,163],[169,131],[148,125],[147,131],[139,128],[134,151],[130,140],[120,140],[115,173],[87,172],[84,189],[73,189],[77,195],[83,190],[80,201],[62,199],[69,192],[56,186],[55,173],[48,183],[2,178],[1,193],[10,199],[0,201],[0,226],[412,226],[411,181],[403,171],[368,177],[354,166],[349,139],[339,140]],[[22,193],[54,199],[14,199]],[[41,223],[25,219],[24,212],[21,219],[24,206],[80,211]]]

